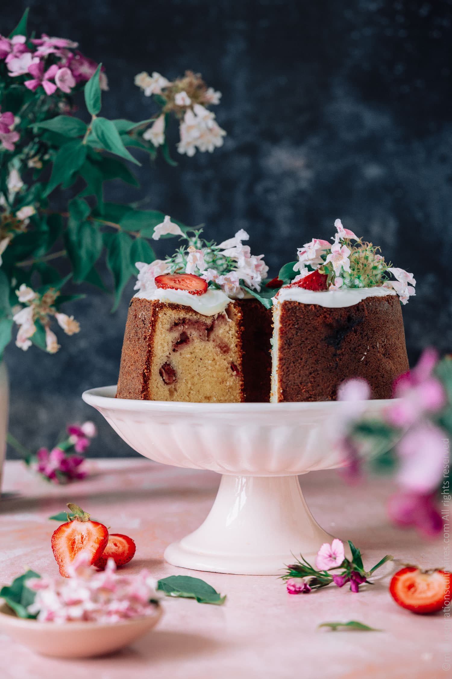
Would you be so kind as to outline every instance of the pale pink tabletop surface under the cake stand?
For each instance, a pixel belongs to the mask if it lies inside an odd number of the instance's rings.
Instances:
[[[192,574],[227,594],[224,606],[166,599],[155,631],[117,655],[60,661],[34,655],[0,634],[2,679],[432,679],[450,676],[451,640],[443,614],[416,616],[390,598],[390,570],[373,587],[352,594],[328,587],[289,595],[269,576],[202,573],[170,566],[163,550],[197,528],[218,488],[218,475],[163,466],[149,460],[89,462],[90,477],[52,486],[22,462],[6,463],[0,502],[0,582],[26,566],[58,574],[50,548],[56,528],[48,517],[68,501],[81,504],[112,532],[136,540],[127,572],[149,568],[156,578]],[[388,523],[384,479],[350,488],[335,472],[310,473],[302,489],[321,526],[361,547],[367,566],[386,553],[423,567],[443,562],[442,540],[424,543]],[[283,564],[281,564],[282,566]],[[386,568],[386,567],[385,567]],[[323,621],[358,620],[384,631],[318,631]],[[443,663],[445,663],[443,665]]]

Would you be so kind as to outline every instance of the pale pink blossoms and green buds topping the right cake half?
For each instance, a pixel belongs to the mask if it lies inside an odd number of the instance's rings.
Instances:
[[[283,266],[279,280],[285,285],[300,285],[306,276],[318,272],[324,280],[322,287],[315,289],[382,286],[395,291],[402,304],[407,304],[409,297],[415,295],[416,281],[413,274],[386,263],[378,247],[363,242],[350,229],[344,228],[340,219],[336,219],[334,225],[336,234],[331,239],[333,244],[312,238],[298,249],[298,261]],[[393,278],[390,278],[391,275]]]

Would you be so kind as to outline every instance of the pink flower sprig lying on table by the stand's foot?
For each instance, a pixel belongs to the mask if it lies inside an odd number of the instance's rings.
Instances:
[[[314,589],[321,589],[328,585],[335,584],[337,587],[344,587],[350,583],[350,590],[358,593],[360,585],[364,583],[372,584],[369,581],[371,575],[386,564],[392,561],[391,555],[386,555],[369,571],[365,570],[361,551],[348,540],[350,551],[352,552],[351,561],[346,558],[344,543],[335,538],[331,545],[324,543],[315,560],[313,568],[302,555],[295,564],[287,566],[287,572],[282,576],[286,581],[289,594],[308,594]],[[334,571],[334,572],[333,572]]]

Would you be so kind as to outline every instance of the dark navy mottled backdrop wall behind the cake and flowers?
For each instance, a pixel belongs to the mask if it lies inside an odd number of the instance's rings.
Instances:
[[[189,68],[223,93],[222,149],[178,168],[143,158],[142,189],[114,187],[110,199],[206,223],[218,241],[244,228],[273,274],[341,217],[415,274],[403,310],[410,361],[428,344],[452,349],[451,0],[9,1],[0,33],[27,4],[32,29],[102,60],[108,117],[148,117],[133,85],[142,70],[171,79]],[[10,430],[30,449],[93,418],[92,455],[133,454],[80,399],[117,380],[132,287],[115,315],[90,289],[72,310],[81,332],[59,333],[56,356],[8,348]]]

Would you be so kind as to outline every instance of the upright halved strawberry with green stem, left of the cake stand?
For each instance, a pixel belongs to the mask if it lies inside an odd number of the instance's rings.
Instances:
[[[58,526],[52,535],[52,551],[64,578],[70,578],[70,564],[73,564],[79,554],[85,554],[91,566],[102,555],[108,543],[108,530],[104,524],[90,521],[89,514],[77,507],[77,504],[69,502],[67,506],[74,516],[68,517],[66,524]]]

